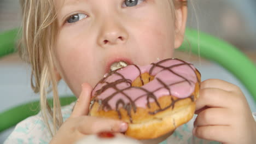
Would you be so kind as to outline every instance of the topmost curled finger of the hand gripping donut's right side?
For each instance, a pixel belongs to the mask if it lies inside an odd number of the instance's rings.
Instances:
[[[223,81],[223,80],[219,80],[219,79],[205,80],[201,83],[200,87],[201,87],[201,89],[203,89],[203,88],[219,88],[219,89],[223,89],[223,90],[229,91],[229,92],[240,91],[240,88],[237,87],[236,85],[226,82],[226,81]]]

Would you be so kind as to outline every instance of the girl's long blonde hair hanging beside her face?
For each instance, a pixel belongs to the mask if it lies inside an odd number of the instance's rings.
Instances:
[[[31,87],[34,93],[40,94],[43,120],[52,136],[63,123],[53,62],[53,47],[57,35],[56,10],[53,1],[20,0],[23,15],[19,46],[21,58],[31,65]],[[187,5],[187,1],[174,1],[168,0],[172,9]],[[53,108],[46,99],[50,91],[53,92]]]

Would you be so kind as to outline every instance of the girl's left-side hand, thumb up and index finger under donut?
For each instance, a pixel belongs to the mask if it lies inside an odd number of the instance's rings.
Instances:
[[[85,135],[97,134],[102,131],[124,132],[127,124],[121,121],[87,116],[90,106],[92,88],[82,85],[82,93],[74,106],[74,110],[51,140],[54,143],[74,143]]]

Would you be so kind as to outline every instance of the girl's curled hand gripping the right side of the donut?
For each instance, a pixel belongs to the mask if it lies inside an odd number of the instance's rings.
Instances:
[[[240,88],[222,80],[201,83],[193,133],[223,143],[255,143],[256,122]]]

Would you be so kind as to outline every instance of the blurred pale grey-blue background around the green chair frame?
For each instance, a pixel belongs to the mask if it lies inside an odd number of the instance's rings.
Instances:
[[[228,41],[256,63],[255,0],[189,0],[188,13],[188,27]],[[0,0],[0,33],[19,27],[20,22],[19,1]],[[193,61],[201,71],[202,80],[216,78],[240,86],[251,110],[256,112],[256,105],[251,95],[232,74],[216,63],[205,60],[199,62],[198,58]],[[16,53],[0,59],[0,112],[39,98],[37,94],[33,94],[30,87],[30,74],[30,67],[22,63]],[[60,82],[59,89],[60,95],[72,94],[63,81]],[[6,139],[11,130],[0,133],[0,143]]]

